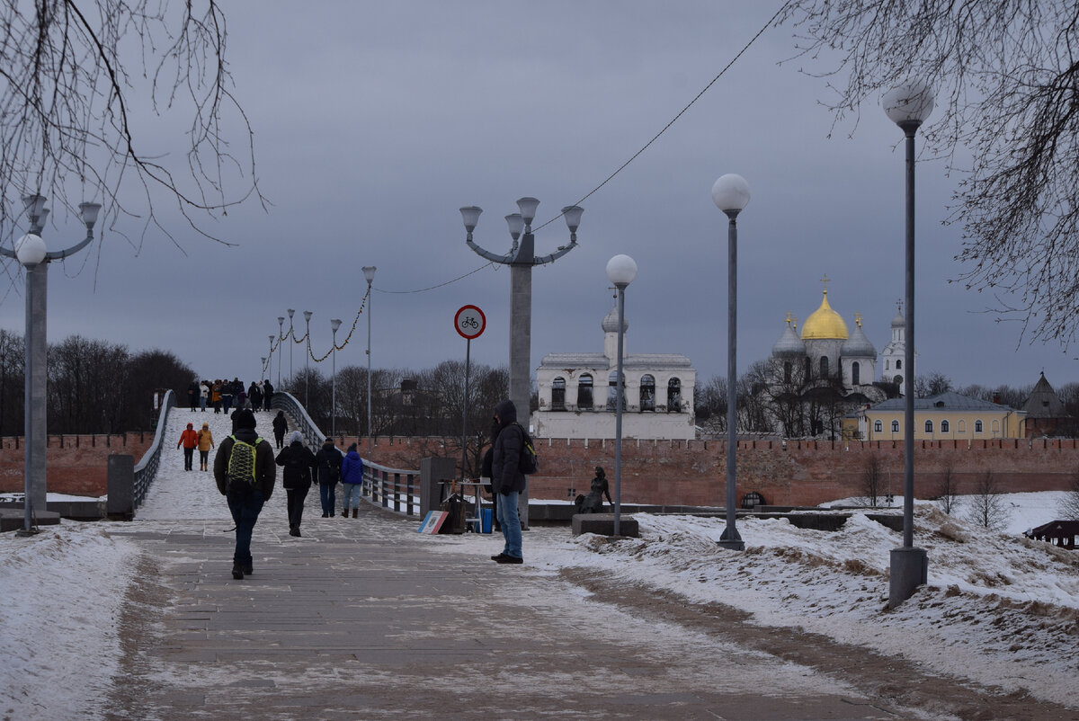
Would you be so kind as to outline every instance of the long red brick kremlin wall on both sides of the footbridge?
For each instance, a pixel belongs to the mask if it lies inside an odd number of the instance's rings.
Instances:
[[[16,447],[16,440],[18,446]],[[49,490],[73,495],[107,492],[107,457],[127,453],[135,462],[150,447],[149,433],[114,436],[50,436]],[[342,437],[339,448],[356,441],[367,453],[367,438]],[[569,488],[587,493],[595,466],[602,465],[614,482],[614,441],[537,438],[540,473],[530,479],[533,499],[568,499]],[[460,439],[374,438],[377,463],[419,468],[420,459],[442,455],[460,459]],[[971,493],[987,471],[1000,492],[1066,490],[1079,473],[1079,440],[917,441],[915,494],[933,498],[951,466],[960,493]],[[746,440],[738,443],[737,496],[750,491],[771,505],[817,505],[834,499],[864,495],[868,460],[880,461],[883,491],[903,486],[903,445],[900,441],[851,443]],[[22,439],[3,438],[0,491],[23,490]],[[722,506],[726,500],[725,440],[623,441],[622,499],[624,503]]]

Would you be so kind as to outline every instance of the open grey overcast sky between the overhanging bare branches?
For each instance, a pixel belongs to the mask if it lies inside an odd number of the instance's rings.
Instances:
[[[177,244],[154,236],[139,253],[121,234],[137,235],[135,220],[103,229],[90,251],[50,271],[51,342],[78,332],[160,348],[203,377],[250,380],[288,308],[299,335],[302,311],[314,313],[316,356],[329,349],[331,317],[344,321],[342,340],[366,289],[360,267],[375,266],[374,367],[463,360],[453,316],[469,303],[488,318],[474,363],[506,365],[508,269],[441,285],[486,263],[465,245],[457,208],[481,206],[476,242],[508,250],[502,218],[518,198],[541,200],[536,225],[577,202],[674,118],[778,2],[224,8],[235,93],[273,205],[247,203],[208,223],[236,247],[175,218]],[[825,82],[800,72],[802,60],[779,64],[793,55],[792,35],[767,30],[582,203],[579,247],[533,272],[533,369],[547,353],[602,351],[600,322],[613,303],[604,269],[624,253],[639,267],[627,290],[627,352],[685,354],[699,383],[725,375],[726,218],[710,195],[725,173],[742,175],[752,194],[738,220],[739,373],[768,354],[788,311],[804,321],[818,308],[825,274],[848,327],[861,313],[878,352],[890,340],[903,295],[902,133],[878,104],[832,132]],[[147,132],[182,148],[177,127],[172,119]],[[943,164],[918,166],[918,373],[957,385],[1024,385],[1040,370],[1057,386],[1076,380],[1074,353],[1028,344],[1017,323],[986,312],[992,298],[948,283],[960,273],[952,258],[961,231],[941,221],[957,182]],[[45,240],[56,249],[80,235],[69,221]],[[537,232],[536,253],[568,239],[564,222],[552,222]],[[22,276],[0,283],[0,327],[21,334]],[[366,366],[366,323],[338,353],[339,369]],[[298,345],[292,368],[303,363]],[[286,351],[283,377],[289,365]],[[328,359],[320,369],[329,373]],[[271,372],[276,381],[276,364]]]

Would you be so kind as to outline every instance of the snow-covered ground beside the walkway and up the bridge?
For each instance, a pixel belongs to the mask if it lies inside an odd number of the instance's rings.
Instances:
[[[228,420],[183,410],[170,416],[172,447],[135,523],[228,520],[213,473],[185,472],[175,449],[187,422],[196,428],[211,423],[219,441]],[[272,439],[271,418],[260,413],[258,430]],[[955,518],[918,503],[915,543],[928,552],[929,584],[892,611],[886,608],[889,552],[901,535],[859,512],[837,532],[740,519],[745,553],[716,546],[722,518],[638,515],[641,538],[618,543],[534,527],[524,536],[525,570],[554,575],[564,568],[602,568],[619,582],[674,591],[688,602],[742,609],[762,626],[801,627],[1001,693],[1026,690],[1079,709],[1079,553],[1021,534],[1054,519],[1062,495],[1005,496],[1003,532],[965,522],[962,509]],[[308,513],[318,513],[317,494],[308,499]],[[284,503],[278,488],[272,513],[284,517]],[[136,542],[110,533],[114,528],[64,521],[29,539],[0,536],[0,719],[100,715],[95,699],[120,657],[113,621],[139,553]],[[429,538],[432,553],[490,550],[472,534]]]

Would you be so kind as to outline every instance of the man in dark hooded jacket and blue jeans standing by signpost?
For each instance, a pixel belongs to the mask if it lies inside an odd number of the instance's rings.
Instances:
[[[517,498],[524,490],[524,475],[520,472],[521,453],[524,451],[524,430],[517,424],[517,408],[513,400],[503,400],[494,407],[498,435],[491,455],[491,488],[494,491],[496,515],[506,538],[506,548],[491,560],[498,563],[523,563],[521,549],[521,520],[517,514]]]

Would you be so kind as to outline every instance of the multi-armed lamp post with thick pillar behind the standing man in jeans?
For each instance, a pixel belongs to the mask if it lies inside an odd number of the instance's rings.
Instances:
[[[532,397],[532,267],[554,262],[577,247],[577,228],[581,226],[581,215],[585,212],[578,205],[562,208],[562,217],[570,228],[569,245],[560,245],[555,253],[536,257],[532,220],[538,206],[540,201],[534,198],[521,198],[517,201],[520,212],[506,216],[509,237],[514,243],[509,251],[503,255],[486,250],[473,242],[473,231],[479,222],[482,208],[475,205],[461,208],[468,247],[481,258],[509,266],[509,399],[517,407],[518,418],[524,419],[525,426],[529,424],[529,400]],[[523,512],[519,514],[521,528],[528,529],[528,486],[518,496],[518,509],[522,507]]]

